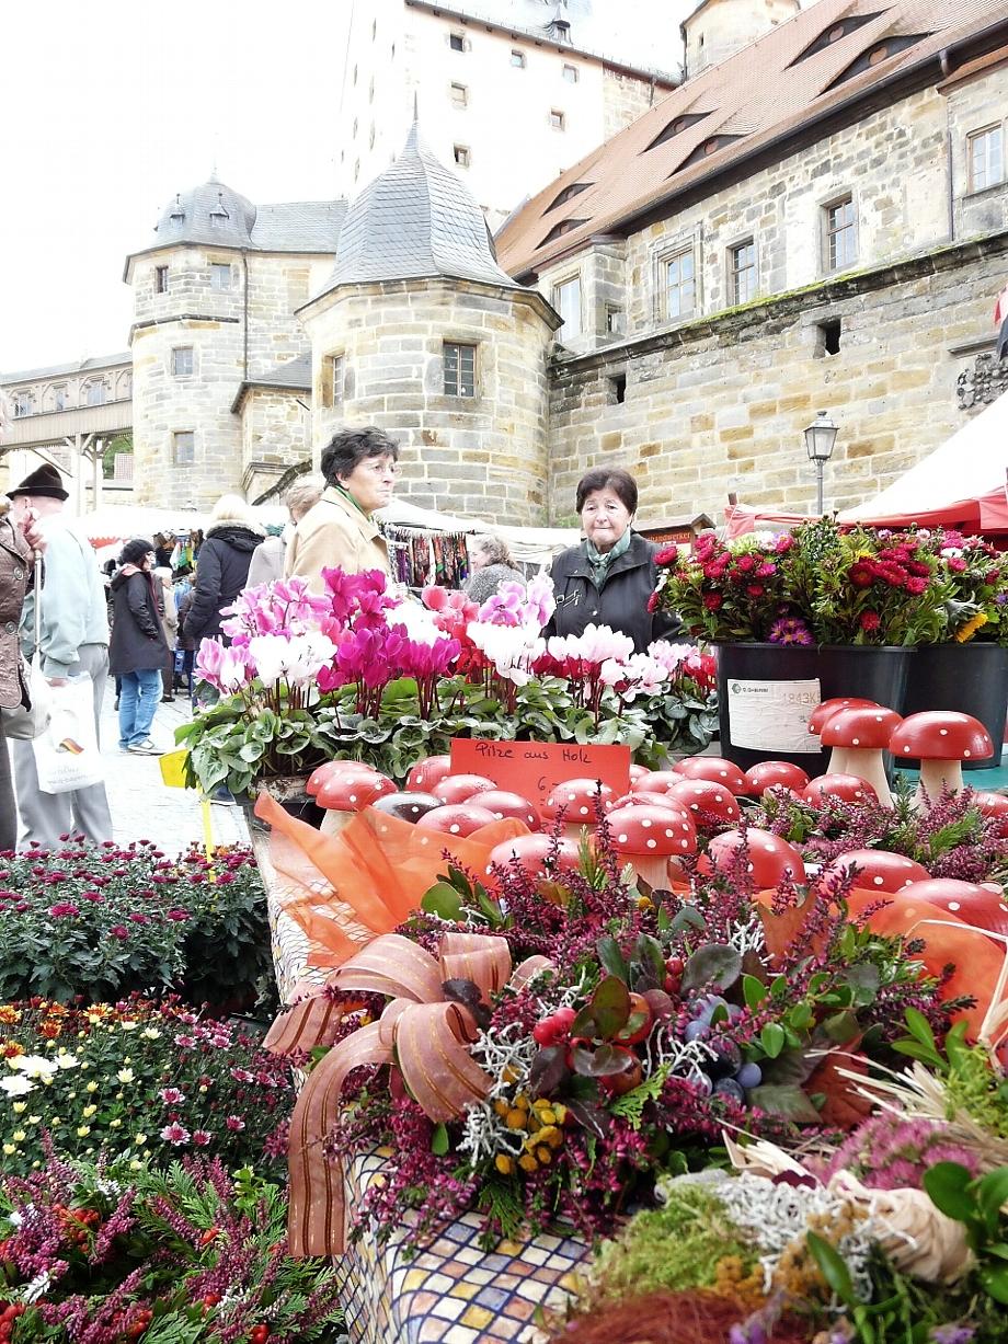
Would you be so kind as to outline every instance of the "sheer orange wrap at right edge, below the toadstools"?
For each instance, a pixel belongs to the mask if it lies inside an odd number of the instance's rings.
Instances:
[[[770,956],[777,958],[788,950],[805,927],[808,911],[805,906],[790,907],[782,914],[773,914],[775,892],[761,891],[755,900],[762,906],[761,917]],[[855,887],[847,896],[847,909],[852,919],[859,918],[880,900],[886,905],[868,917],[868,927],[887,937],[919,938],[923,950],[915,953],[929,974],[939,976],[949,965],[954,965],[952,978],[942,988],[942,999],[956,999],[969,995],[976,999],[973,1008],[964,1008],[956,1019],[969,1023],[970,1036],[978,1038],[992,1000],[997,993],[997,981],[1004,962],[1004,949],[993,938],[950,914],[942,906],[931,905],[902,895],[902,892],[867,891]],[[808,905],[808,902],[806,902]]]

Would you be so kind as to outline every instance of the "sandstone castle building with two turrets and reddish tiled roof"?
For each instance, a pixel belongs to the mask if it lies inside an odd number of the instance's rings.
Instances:
[[[696,11],[704,50],[737,3]],[[138,499],[257,499],[347,421],[402,439],[415,503],[489,520],[566,520],[603,464],[652,517],[805,509],[820,409],[828,503],[887,485],[1008,386],[1008,3],[766,16],[493,243],[415,129],[348,208],[176,198],[126,266]]]

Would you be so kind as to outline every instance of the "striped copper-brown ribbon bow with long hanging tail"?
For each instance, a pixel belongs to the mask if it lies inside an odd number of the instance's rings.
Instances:
[[[375,938],[329,976],[335,989],[387,995],[391,1001],[379,1021],[360,1027],[321,1058],[297,1098],[288,1144],[292,1255],[343,1254],[343,1169],[339,1160],[325,1154],[323,1141],[340,1113],[348,1074],[362,1064],[394,1059],[423,1113],[433,1121],[454,1120],[488,1094],[493,1079],[469,1054],[477,1036],[473,1015],[445,999],[444,981],[472,980],[488,1001],[508,978],[520,986],[548,965],[546,957],[530,957],[512,976],[511,949],[504,938],[446,933],[434,958],[418,943],[391,933]],[[281,1013],[266,1036],[266,1048],[284,1052],[293,1046],[310,1050],[325,1043],[324,1032],[332,1027],[335,1012],[332,1004],[327,1009],[325,1000],[323,989]],[[313,1039],[316,1031],[323,1032],[319,1039]]]

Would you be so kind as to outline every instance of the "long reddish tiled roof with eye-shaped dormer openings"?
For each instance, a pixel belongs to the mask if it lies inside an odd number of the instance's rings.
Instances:
[[[863,22],[814,51],[817,39],[844,20]],[[864,20],[868,22],[864,22]],[[891,78],[909,75],[949,47],[1005,27],[1008,0],[818,0],[737,55],[687,81],[633,125],[560,173],[507,220],[496,238],[497,259],[524,277],[569,255],[594,234],[625,231],[636,215],[716,179],[742,159],[802,130],[813,118],[839,113]],[[918,38],[848,77],[851,66],[891,39]],[[996,40],[996,39],[992,39]],[[976,54],[976,52],[974,52]],[[970,58],[972,59],[972,58]],[[706,113],[677,134],[648,148],[677,117]],[[739,137],[718,144],[718,137]],[[703,146],[714,141],[708,152]],[[691,156],[696,160],[688,163]],[[590,183],[559,207],[556,196]],[[563,219],[585,223],[552,237]]]

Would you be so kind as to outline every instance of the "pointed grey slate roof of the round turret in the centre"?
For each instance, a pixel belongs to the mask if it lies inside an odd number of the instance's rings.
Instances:
[[[474,196],[434,157],[414,121],[399,157],[349,206],[324,292],[430,276],[521,288],[497,265]]]

